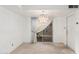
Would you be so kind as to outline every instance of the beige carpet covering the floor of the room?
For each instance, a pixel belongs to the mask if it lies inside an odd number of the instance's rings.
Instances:
[[[23,43],[11,54],[73,54],[73,50],[63,43],[39,42],[34,44]]]

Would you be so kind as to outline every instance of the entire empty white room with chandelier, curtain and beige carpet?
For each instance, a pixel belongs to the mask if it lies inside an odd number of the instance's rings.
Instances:
[[[0,5],[0,54],[78,53],[78,5]]]

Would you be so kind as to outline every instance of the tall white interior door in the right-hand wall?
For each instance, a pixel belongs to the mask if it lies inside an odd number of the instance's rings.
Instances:
[[[75,25],[75,17],[74,15],[71,15],[69,17],[67,17],[67,21],[68,21],[68,39],[67,39],[67,45],[74,49],[74,34],[75,34],[75,31],[74,31],[74,25]]]

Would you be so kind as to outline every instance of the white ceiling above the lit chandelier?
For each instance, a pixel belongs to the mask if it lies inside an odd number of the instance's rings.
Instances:
[[[65,16],[73,11],[72,9],[68,9],[67,5],[4,5],[2,7],[24,16],[39,16],[45,13],[56,17]]]

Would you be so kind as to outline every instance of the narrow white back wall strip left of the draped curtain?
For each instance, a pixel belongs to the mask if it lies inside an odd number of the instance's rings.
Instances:
[[[30,43],[32,41],[31,39],[31,17],[26,17],[25,21],[25,40],[24,42]]]

